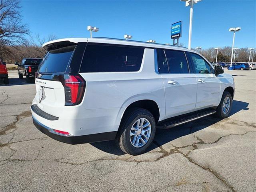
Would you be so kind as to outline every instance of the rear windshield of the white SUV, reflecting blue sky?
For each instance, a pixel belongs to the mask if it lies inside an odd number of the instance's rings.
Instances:
[[[64,73],[72,57],[75,45],[50,50],[42,60],[39,72],[57,72]]]

